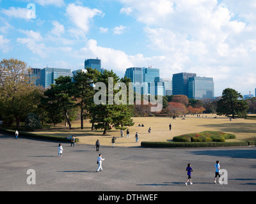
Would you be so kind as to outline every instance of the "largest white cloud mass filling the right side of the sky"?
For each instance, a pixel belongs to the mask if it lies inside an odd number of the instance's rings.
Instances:
[[[255,72],[255,1],[224,0],[221,4],[217,0],[119,1],[124,5],[120,13],[145,25],[148,48],[163,54],[167,58],[164,62],[170,63],[169,66],[159,63],[160,74],[178,71],[205,74],[214,77],[218,84],[216,94],[221,94],[226,80],[237,84],[237,75]],[[246,89],[246,83],[239,80],[238,84]]]

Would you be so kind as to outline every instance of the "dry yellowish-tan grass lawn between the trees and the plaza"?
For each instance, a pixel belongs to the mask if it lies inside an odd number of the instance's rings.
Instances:
[[[126,130],[124,138],[120,137],[120,131],[111,129],[107,135],[102,135],[103,130],[91,131],[91,124],[88,120],[84,120],[84,129],[80,129],[80,122],[72,122],[72,129],[59,125],[54,128],[44,128],[33,133],[49,134],[58,136],[74,135],[79,138],[79,143],[95,145],[96,140],[100,141],[100,145],[112,145],[111,138],[116,136],[116,146],[134,147],[140,146],[141,141],[172,141],[173,136],[182,135],[185,133],[198,133],[202,131],[223,131],[236,135],[236,140],[255,140],[256,139],[256,120],[249,119],[232,119],[227,117],[207,114],[207,117],[196,117],[189,115],[184,120],[181,117],[176,117],[175,120],[168,117],[134,117],[134,126],[129,127],[130,138],[126,138]],[[172,124],[172,131],[169,130],[169,124]],[[144,124],[145,127],[138,127],[138,124]],[[151,133],[148,133],[148,128],[151,127]],[[138,132],[140,139],[135,143],[135,133]]]

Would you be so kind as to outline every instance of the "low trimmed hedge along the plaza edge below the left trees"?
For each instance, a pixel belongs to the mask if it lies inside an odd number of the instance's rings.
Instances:
[[[15,135],[15,130],[13,130],[13,129],[0,128],[0,131],[3,133],[8,133],[13,136]],[[40,140],[54,140],[54,141],[60,141],[60,142],[70,142],[70,139],[67,139],[67,137],[65,137],[65,136],[40,135],[40,134],[27,133],[24,131],[19,131],[19,136],[23,136],[25,138],[35,138],[35,139],[40,139]],[[79,142],[78,138],[76,138],[76,142]]]

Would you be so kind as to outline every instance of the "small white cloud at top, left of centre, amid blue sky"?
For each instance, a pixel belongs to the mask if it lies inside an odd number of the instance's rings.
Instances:
[[[90,29],[90,20],[96,15],[102,15],[102,11],[96,8],[90,9],[84,6],[77,6],[76,4],[68,4],[66,11],[68,18],[84,34],[88,33]]]

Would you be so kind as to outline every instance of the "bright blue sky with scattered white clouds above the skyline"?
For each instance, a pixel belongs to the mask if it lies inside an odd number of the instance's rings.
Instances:
[[[99,57],[120,77],[152,65],[163,78],[213,77],[215,96],[255,94],[255,55],[254,0],[0,0],[0,59],[33,68],[76,70]]]

